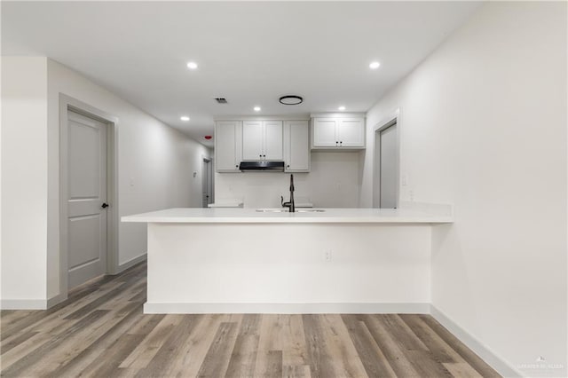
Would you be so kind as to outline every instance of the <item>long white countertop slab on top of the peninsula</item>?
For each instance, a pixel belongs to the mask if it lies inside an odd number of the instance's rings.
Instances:
[[[278,213],[256,209],[178,208],[122,217],[133,223],[453,223],[451,214],[428,209],[324,209],[324,212]]]

